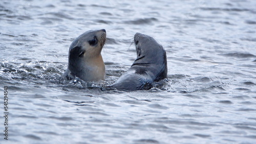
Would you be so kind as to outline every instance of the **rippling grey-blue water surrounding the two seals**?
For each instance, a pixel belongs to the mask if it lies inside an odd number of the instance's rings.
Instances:
[[[9,140],[1,118],[0,143],[255,143],[255,8],[239,0],[1,1]],[[106,81],[59,80],[71,42],[95,29],[107,33]],[[106,88],[135,60],[136,32],[163,45],[168,80],[150,90]]]

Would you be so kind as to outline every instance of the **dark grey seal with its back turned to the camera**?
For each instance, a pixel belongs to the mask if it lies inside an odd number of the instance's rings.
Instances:
[[[111,87],[120,90],[147,90],[152,83],[167,78],[166,52],[153,37],[136,33],[137,59]]]

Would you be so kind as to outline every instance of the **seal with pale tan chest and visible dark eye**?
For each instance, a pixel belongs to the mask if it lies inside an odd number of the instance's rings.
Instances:
[[[87,31],[77,37],[69,48],[68,68],[63,74],[68,80],[78,77],[83,81],[105,80],[105,65],[101,50],[106,31]]]

